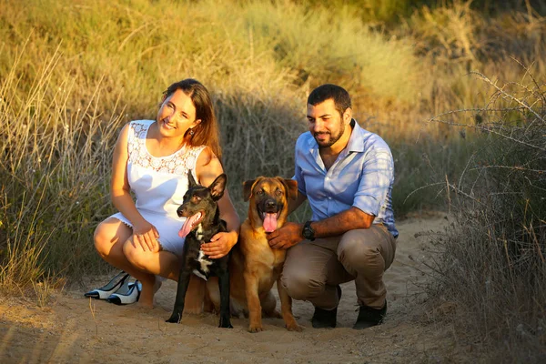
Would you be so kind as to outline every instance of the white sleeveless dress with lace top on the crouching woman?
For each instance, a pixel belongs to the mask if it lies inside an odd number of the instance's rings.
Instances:
[[[197,181],[196,161],[205,146],[183,147],[167,157],[154,157],[146,147],[149,126],[154,120],[136,120],[129,123],[127,140],[127,179],[136,197],[136,209],[159,232],[159,243],[178,257],[182,254],[184,238],[178,230],[186,217],[177,216],[187,191],[187,173]],[[129,227],[133,224],[121,212],[112,215]]]

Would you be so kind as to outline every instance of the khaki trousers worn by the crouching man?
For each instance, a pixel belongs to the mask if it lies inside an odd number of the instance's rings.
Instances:
[[[383,272],[395,252],[396,239],[379,224],[338,237],[303,240],[288,249],[281,284],[291,298],[333,309],[339,304],[336,286],[354,280],[358,304],[382,308],[387,296]]]

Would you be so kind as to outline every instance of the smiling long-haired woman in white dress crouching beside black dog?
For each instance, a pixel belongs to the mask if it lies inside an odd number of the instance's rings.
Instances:
[[[186,217],[177,216],[177,207],[187,191],[188,173],[203,186],[223,173],[218,135],[207,88],[194,79],[167,88],[155,121],[132,121],[121,130],[111,183],[119,212],[96,227],[95,247],[108,263],[142,283],[142,306],[153,307],[157,276],[178,278],[184,245],[178,230]],[[238,239],[240,222],[227,190],[218,206],[228,232],[203,245],[210,258],[225,256]],[[192,279],[190,289],[197,289],[198,278]]]

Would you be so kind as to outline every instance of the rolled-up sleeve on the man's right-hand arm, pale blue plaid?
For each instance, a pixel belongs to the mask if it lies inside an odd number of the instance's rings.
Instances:
[[[381,205],[386,201],[393,179],[394,163],[390,151],[384,149],[369,151],[352,206],[377,217]]]

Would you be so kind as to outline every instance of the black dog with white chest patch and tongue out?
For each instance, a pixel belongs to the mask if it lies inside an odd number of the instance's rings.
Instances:
[[[217,200],[224,195],[227,177],[218,176],[209,187],[197,184],[191,172],[188,173],[189,188],[184,202],[177,209],[179,217],[187,217],[186,223],[178,232],[186,237],[182,255],[182,268],[178,276],[177,298],[173,314],[167,322],[180,322],[186,299],[187,285],[192,272],[198,276],[217,277],[220,288],[220,328],[233,329],[229,320],[229,254],[222,258],[208,258],[201,251],[201,244],[210,241],[215,234],[227,231],[226,221],[220,219]]]

